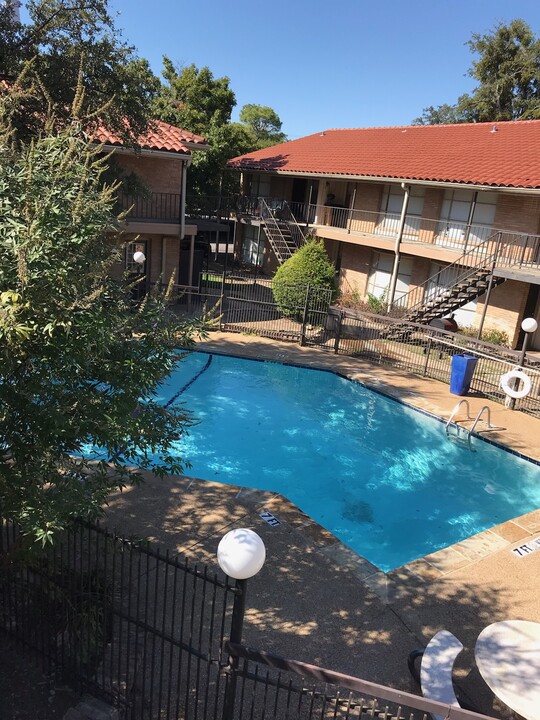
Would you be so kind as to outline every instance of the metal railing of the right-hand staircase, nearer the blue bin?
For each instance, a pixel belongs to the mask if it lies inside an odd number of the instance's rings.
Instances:
[[[452,286],[472,277],[481,268],[493,270],[499,253],[500,232],[461,255],[457,260],[429,277],[425,282],[405,293],[391,305],[390,310],[405,311],[404,317],[414,314],[428,302],[442,300]],[[431,294],[431,289],[433,293]]]

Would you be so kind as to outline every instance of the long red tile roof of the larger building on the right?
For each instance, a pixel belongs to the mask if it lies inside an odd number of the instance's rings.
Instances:
[[[540,120],[326,130],[229,160],[272,173],[540,188]]]

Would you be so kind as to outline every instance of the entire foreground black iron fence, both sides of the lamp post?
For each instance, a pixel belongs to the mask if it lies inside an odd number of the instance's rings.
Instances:
[[[0,524],[1,630],[124,720],[486,717],[242,646],[245,589],[86,523],[44,548]]]

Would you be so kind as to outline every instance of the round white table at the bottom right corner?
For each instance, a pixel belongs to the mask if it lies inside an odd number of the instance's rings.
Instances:
[[[482,630],[476,664],[494,694],[527,720],[540,720],[540,623],[505,620]]]

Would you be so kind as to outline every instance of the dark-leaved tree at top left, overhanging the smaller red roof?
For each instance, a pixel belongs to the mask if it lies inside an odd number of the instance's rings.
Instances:
[[[27,97],[14,118],[19,133],[36,132],[51,107],[69,121],[83,58],[84,114],[99,112],[110,130],[135,142],[160,83],[121,40],[108,0],[29,0],[26,7],[28,24],[14,21],[7,5],[0,11],[0,73],[17,77],[32,60],[43,90]]]

